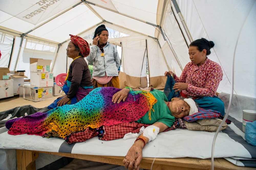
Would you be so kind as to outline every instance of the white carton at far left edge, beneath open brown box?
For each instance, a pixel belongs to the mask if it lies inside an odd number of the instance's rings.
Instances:
[[[13,96],[13,80],[0,80],[0,99]]]

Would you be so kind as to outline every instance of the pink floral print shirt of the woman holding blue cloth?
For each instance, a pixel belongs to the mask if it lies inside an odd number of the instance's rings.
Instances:
[[[175,76],[174,80],[188,83],[187,90],[182,90],[188,96],[213,97],[222,76],[220,65],[207,58],[199,67],[192,62],[187,63],[180,77]]]

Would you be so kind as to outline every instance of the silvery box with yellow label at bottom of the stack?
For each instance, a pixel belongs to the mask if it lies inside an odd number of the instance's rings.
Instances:
[[[34,87],[30,84],[19,85],[19,97],[31,101],[41,101],[52,98],[52,86]]]

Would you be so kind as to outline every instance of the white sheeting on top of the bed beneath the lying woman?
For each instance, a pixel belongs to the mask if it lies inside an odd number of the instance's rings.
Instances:
[[[143,157],[154,158],[201,158],[211,157],[211,146],[215,132],[174,129],[159,133],[157,140],[147,143],[143,149]],[[125,156],[134,139],[99,140],[97,137],[86,142],[76,143],[71,153],[105,156]],[[35,151],[58,152],[64,139],[42,138],[36,135],[0,134],[0,148],[27,149]],[[102,148],[102,149],[99,149]],[[157,153],[158,152],[158,153]],[[157,155],[156,155],[157,153]],[[225,133],[219,133],[215,145],[215,158],[223,157],[251,158],[250,153],[238,142]]]

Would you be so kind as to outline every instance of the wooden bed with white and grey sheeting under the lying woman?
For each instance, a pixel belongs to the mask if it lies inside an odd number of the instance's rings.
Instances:
[[[239,98],[239,96],[235,97]],[[220,98],[226,106],[229,96],[220,94]],[[253,100],[248,98],[250,102],[254,100],[255,98]],[[248,101],[243,99],[243,102]],[[231,110],[228,119],[232,123],[218,134],[214,152],[215,169],[256,169],[253,168],[256,163],[256,147],[244,140],[242,123],[239,121],[241,112],[237,113],[237,111],[240,110],[235,107]],[[214,134],[215,132],[178,128],[159,133],[156,140],[147,143],[144,147],[144,158],[140,167],[150,169],[156,156],[153,169],[210,169],[209,158]],[[122,165],[122,160],[134,140],[133,138],[103,141],[94,137],[86,142],[67,144],[64,139],[59,138],[47,139],[27,134],[13,136],[4,132],[0,134],[0,148],[16,149],[18,170],[35,169],[35,160],[39,152]]]

